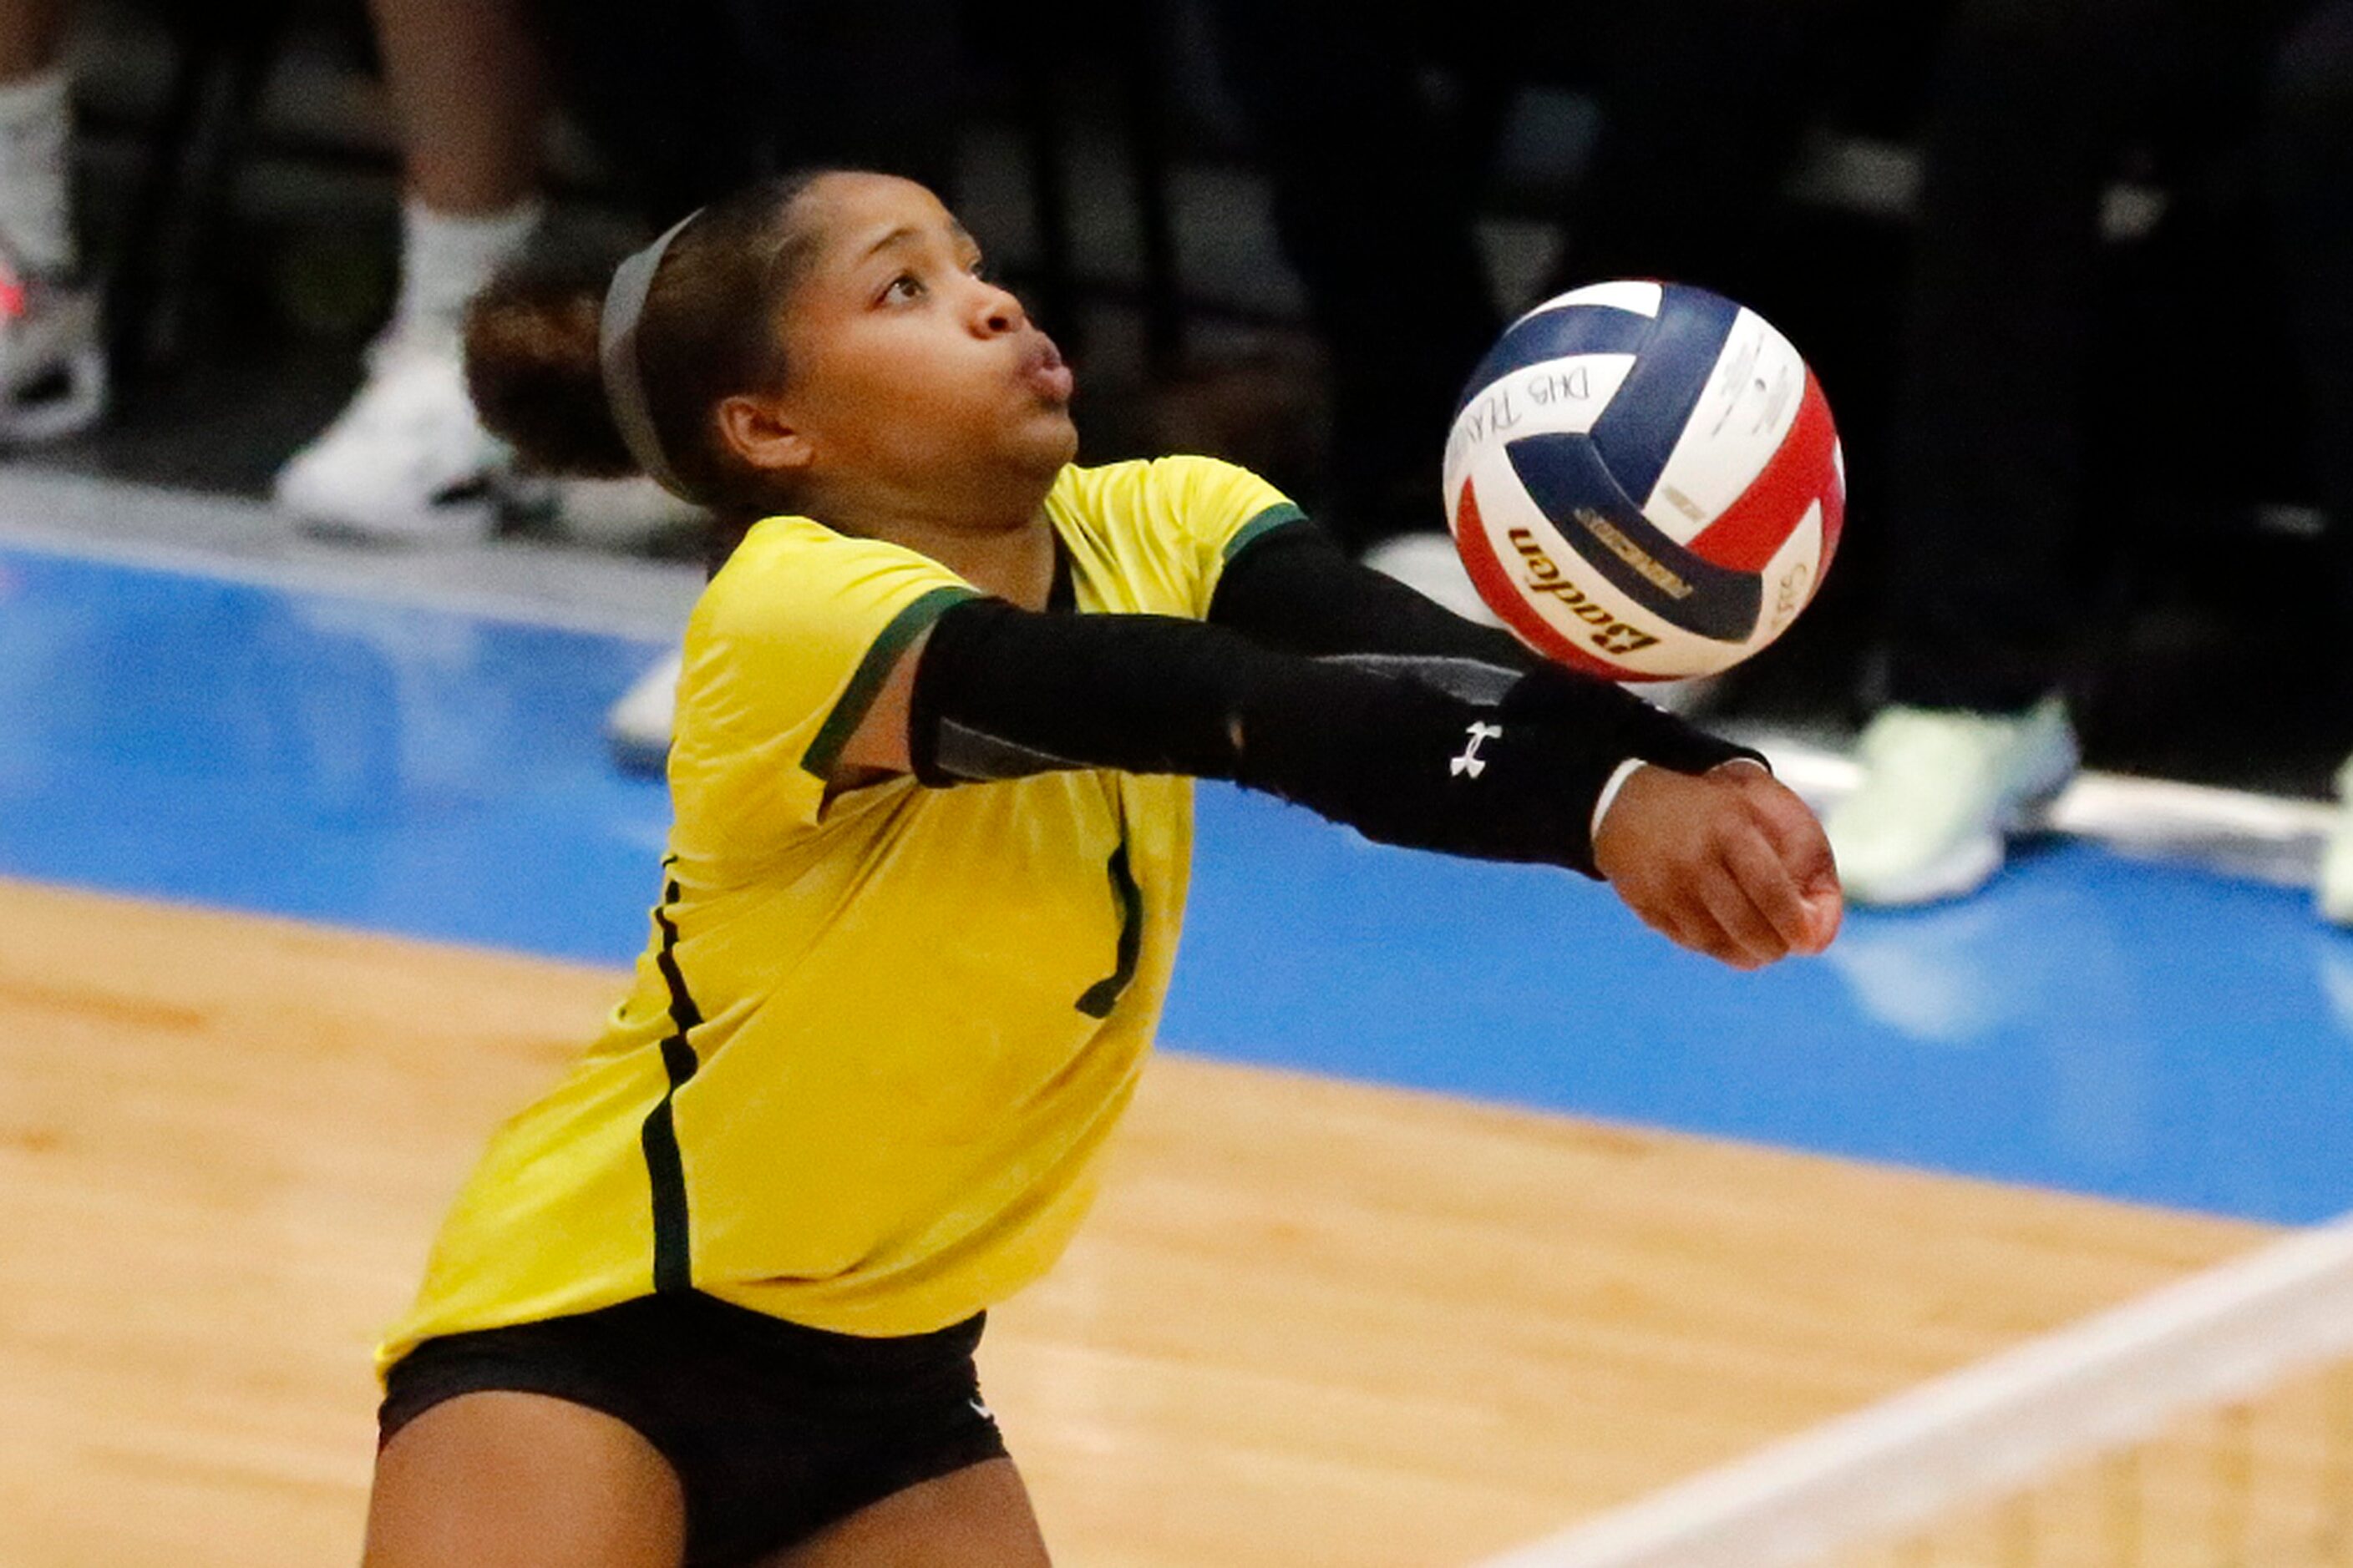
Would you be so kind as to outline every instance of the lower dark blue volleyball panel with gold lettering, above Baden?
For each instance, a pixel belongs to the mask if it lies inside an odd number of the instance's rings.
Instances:
[[[1522,435],[1504,454],[1527,498],[1560,529],[1579,559],[1635,604],[1715,642],[1746,642],[1758,630],[1758,614],[1765,609],[1758,574],[1718,567],[1668,538],[1619,489],[1588,437]]]

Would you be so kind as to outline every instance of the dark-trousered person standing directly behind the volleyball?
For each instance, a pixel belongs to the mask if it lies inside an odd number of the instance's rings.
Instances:
[[[1487,618],[1445,534],[1438,470],[1464,381],[1504,327],[1475,221],[1515,94],[1584,82],[1602,108],[1539,296],[1614,275],[1737,292],[1729,270],[1833,75],[1842,9],[1506,5],[1466,24],[1438,5],[1209,2],[1327,355],[1322,515],[1351,550]],[[1431,92],[1442,68],[1457,78],[1447,103]]]

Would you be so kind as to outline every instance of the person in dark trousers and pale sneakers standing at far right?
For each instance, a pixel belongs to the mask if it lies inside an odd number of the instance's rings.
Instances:
[[[2261,85],[2271,212],[2311,376],[2322,503],[2353,527],[2353,0],[1962,0],[1922,139],[1906,369],[1894,409],[1889,705],[1828,832],[1854,898],[1969,893],[2005,835],[2075,776],[2059,665],[2080,592],[2101,195],[2181,106]],[[2209,136],[2212,127],[2188,129]],[[2353,602],[2353,571],[2346,574]],[[2353,788],[2353,766],[2341,780]],[[2322,912],[2353,922],[2353,811]]]

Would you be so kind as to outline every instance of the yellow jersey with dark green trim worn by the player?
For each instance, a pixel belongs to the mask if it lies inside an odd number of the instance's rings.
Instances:
[[[1080,614],[1202,618],[1292,522],[1209,458],[1066,468]],[[974,588],[807,517],[755,524],[687,623],[661,903],[628,999],[456,1199],[379,1366],[419,1340],[704,1291],[927,1333],[1038,1279],[1151,1048],[1188,778],[828,792],[906,646]]]

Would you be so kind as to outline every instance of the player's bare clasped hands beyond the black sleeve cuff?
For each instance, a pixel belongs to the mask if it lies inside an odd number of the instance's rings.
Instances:
[[[1626,778],[1593,863],[1642,924],[1734,969],[1821,952],[1845,896],[1821,823],[1753,762]]]

